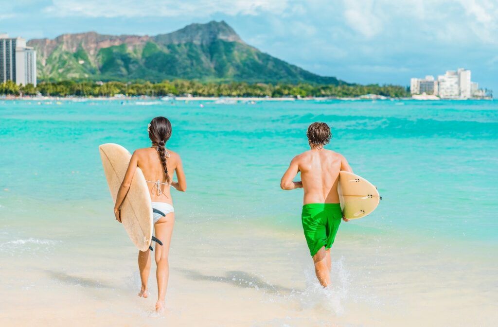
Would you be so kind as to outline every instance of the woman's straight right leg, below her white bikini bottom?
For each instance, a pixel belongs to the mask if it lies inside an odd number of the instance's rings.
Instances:
[[[155,236],[162,242],[162,246],[157,243],[155,245],[155,260],[157,264],[156,311],[162,311],[164,309],[164,298],[166,296],[166,288],[168,287],[169,277],[169,244],[171,242],[171,234],[173,233],[174,223],[175,213],[170,213],[167,214],[166,217],[159,219],[159,221],[154,224]]]

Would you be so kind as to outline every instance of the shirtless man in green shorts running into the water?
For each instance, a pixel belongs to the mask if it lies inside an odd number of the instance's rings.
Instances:
[[[315,263],[316,277],[323,287],[327,287],[330,285],[330,247],[341,218],[348,221],[343,217],[339,204],[339,172],[353,170],[344,156],[323,148],[332,137],[326,123],[312,123],[307,135],[311,150],[292,159],[280,187],[283,190],[304,189],[301,214],[304,236]],[[293,182],[298,172],[301,172],[301,181]]]

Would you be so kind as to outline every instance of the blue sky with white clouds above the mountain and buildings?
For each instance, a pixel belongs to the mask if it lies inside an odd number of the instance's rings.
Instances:
[[[250,45],[314,73],[408,85],[464,67],[498,92],[498,0],[0,0],[0,32],[155,35],[225,20]]]

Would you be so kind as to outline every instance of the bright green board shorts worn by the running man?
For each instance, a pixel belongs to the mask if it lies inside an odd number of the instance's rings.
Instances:
[[[334,243],[342,220],[341,205],[309,203],[303,206],[301,220],[310,254],[314,256],[324,245],[329,249]]]

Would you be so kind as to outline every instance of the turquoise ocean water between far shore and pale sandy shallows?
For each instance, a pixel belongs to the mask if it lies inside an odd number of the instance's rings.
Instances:
[[[88,101],[0,103],[2,220],[8,203],[109,202],[98,145],[149,145],[148,121],[167,116],[167,146],[184,161],[188,192],[177,210],[298,228],[300,191],[279,179],[307,149],[306,128],[325,121],[327,146],[383,197],[355,222],[370,233],[498,242],[498,106],[492,101],[260,102]],[[47,217],[47,219],[50,219]]]

